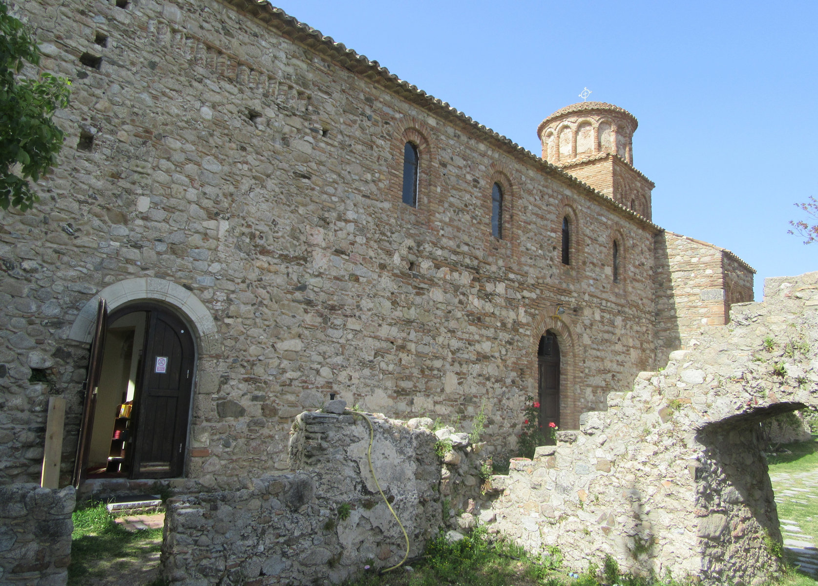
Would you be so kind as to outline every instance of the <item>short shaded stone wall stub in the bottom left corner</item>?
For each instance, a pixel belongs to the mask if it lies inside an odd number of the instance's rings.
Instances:
[[[74,504],[73,486],[0,486],[0,584],[65,584]]]

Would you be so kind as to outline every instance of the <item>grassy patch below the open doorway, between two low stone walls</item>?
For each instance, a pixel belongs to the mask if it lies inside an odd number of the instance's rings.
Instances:
[[[72,517],[69,586],[87,584],[89,577],[102,578],[121,572],[128,563],[160,551],[161,529],[125,530],[114,522],[103,503],[79,509]],[[155,586],[159,584],[162,583],[157,582]]]

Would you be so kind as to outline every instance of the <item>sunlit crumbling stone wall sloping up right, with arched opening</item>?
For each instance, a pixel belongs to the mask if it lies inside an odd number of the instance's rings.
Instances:
[[[818,402],[816,308],[818,273],[767,279],[764,302],[734,305],[607,412],[492,476],[495,529],[559,545],[577,569],[607,553],[637,573],[760,584],[780,541],[760,422]]]

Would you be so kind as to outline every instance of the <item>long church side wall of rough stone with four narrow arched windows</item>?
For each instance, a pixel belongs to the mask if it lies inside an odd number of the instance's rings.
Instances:
[[[194,478],[285,470],[292,418],[330,393],[463,421],[487,399],[486,439],[500,449],[536,393],[548,327],[564,327],[573,352],[564,426],[653,363],[656,228],[465,118],[213,0],[11,12],[72,97],[55,115],[66,142],[41,201],[0,213],[0,482],[38,479],[49,394],[68,403],[69,480],[88,358],[70,328],[130,278],[185,287],[216,324],[196,375]],[[420,210],[400,202],[407,137],[423,139]],[[506,182],[503,241],[486,220],[494,181]],[[567,210],[571,267],[559,251]],[[613,233],[628,243],[616,286]],[[562,322],[550,320],[559,304]],[[32,369],[47,383],[30,383]]]

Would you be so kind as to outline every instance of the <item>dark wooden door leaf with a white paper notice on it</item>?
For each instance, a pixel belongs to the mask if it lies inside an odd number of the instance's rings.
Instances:
[[[131,477],[182,476],[195,358],[189,328],[152,309],[142,356]]]

